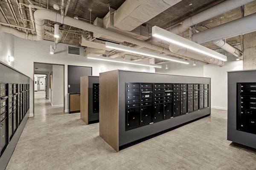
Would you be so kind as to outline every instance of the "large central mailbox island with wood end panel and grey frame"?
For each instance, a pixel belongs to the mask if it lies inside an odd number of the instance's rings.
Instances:
[[[210,114],[210,105],[198,108],[199,84],[210,89],[210,78],[115,70],[100,73],[100,84],[100,136],[116,151]]]

